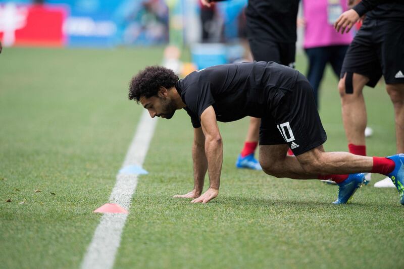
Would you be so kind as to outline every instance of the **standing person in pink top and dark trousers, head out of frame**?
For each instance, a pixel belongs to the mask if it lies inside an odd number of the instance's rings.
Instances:
[[[309,58],[307,78],[313,87],[317,107],[318,90],[327,63],[331,64],[339,78],[342,62],[352,35],[338,34],[334,23],[339,15],[348,9],[346,0],[303,0],[304,48]]]

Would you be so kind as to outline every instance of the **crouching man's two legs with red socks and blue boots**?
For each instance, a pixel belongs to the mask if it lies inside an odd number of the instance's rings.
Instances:
[[[369,157],[348,152],[324,152],[318,146],[298,156],[286,156],[287,145],[261,145],[260,163],[265,173],[278,178],[324,179],[327,177],[339,185],[334,204],[344,204],[356,190],[365,184],[363,172],[389,175],[404,205],[404,179],[402,161],[404,154],[392,157]],[[396,167],[397,166],[397,167]]]

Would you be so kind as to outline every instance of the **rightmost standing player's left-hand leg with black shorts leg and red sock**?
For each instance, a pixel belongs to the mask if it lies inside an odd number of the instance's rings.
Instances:
[[[364,24],[349,45],[343,60],[338,89],[341,96],[342,121],[350,153],[366,155],[365,129],[367,114],[363,87],[374,87],[382,70],[374,46],[375,25]],[[367,175],[370,180],[370,174]]]

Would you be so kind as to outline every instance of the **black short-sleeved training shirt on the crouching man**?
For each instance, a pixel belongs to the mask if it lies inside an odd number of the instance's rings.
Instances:
[[[213,66],[192,72],[176,84],[192,126],[212,105],[220,122],[246,116],[263,118],[276,107],[283,93],[292,91],[298,72],[274,62]]]

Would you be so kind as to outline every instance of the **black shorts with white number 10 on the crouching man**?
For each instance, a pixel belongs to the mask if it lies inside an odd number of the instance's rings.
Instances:
[[[261,118],[260,145],[288,144],[299,155],[327,140],[314,100],[313,89],[298,74],[292,91],[279,90],[284,96],[268,117]]]

